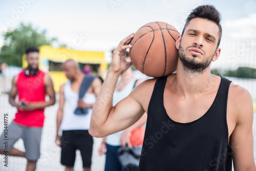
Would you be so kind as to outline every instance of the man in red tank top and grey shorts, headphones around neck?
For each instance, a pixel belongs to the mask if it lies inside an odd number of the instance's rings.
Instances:
[[[35,170],[40,157],[40,141],[44,125],[44,109],[55,103],[55,92],[49,75],[38,69],[39,50],[26,50],[28,68],[14,76],[9,94],[9,102],[17,108],[13,122],[8,125],[8,145],[4,144],[4,133],[0,137],[0,154],[27,158],[26,170]],[[45,101],[46,94],[50,100]],[[18,95],[18,102],[15,98]],[[14,148],[14,143],[22,138],[26,152]],[[3,141],[3,142],[2,142]]]

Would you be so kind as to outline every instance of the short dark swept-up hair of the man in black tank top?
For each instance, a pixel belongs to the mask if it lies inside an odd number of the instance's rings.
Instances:
[[[194,18],[207,19],[207,20],[217,24],[217,26],[219,27],[219,41],[218,41],[218,44],[217,44],[217,48],[218,48],[219,45],[220,45],[221,36],[222,36],[222,27],[220,25],[220,22],[221,22],[220,12],[213,5],[198,6],[197,8],[192,10],[191,13],[188,15],[181,36],[183,35],[183,33],[184,33],[187,25],[189,24],[190,20],[194,19]]]

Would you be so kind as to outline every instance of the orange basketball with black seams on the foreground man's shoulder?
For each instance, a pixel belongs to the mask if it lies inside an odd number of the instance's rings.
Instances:
[[[139,28],[130,43],[135,68],[150,77],[163,77],[176,71],[178,49],[175,42],[179,34],[173,26],[163,22]]]

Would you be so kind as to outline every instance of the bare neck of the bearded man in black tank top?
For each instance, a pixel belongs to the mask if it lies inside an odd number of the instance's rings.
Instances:
[[[176,91],[184,96],[205,94],[214,89],[218,80],[210,74],[210,66],[203,73],[186,71],[178,61],[175,78]]]

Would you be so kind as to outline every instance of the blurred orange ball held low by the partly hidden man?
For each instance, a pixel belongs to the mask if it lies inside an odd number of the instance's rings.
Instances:
[[[130,137],[130,141],[132,146],[140,146],[143,144],[145,134],[144,127],[137,127],[137,129],[133,130],[132,135]]]

